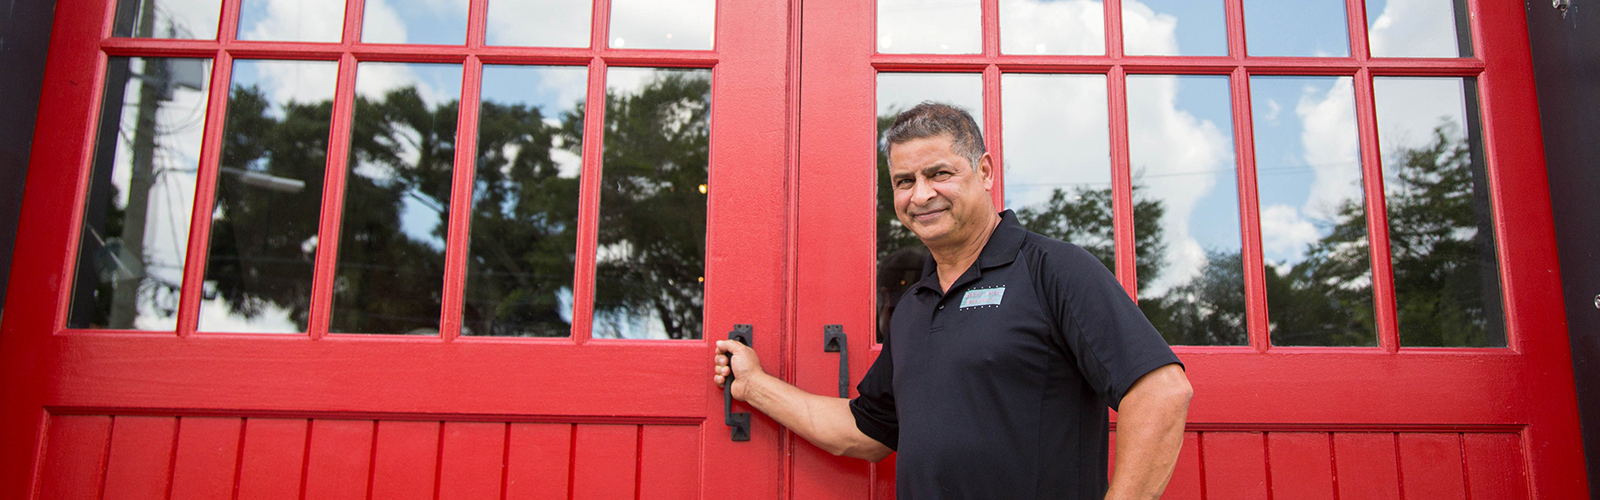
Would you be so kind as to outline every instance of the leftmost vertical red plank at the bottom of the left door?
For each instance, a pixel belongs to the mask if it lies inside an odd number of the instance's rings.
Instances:
[[[51,415],[40,498],[99,498],[110,417]]]

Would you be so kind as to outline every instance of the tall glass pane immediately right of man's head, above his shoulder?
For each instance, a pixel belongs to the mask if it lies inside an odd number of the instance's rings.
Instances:
[[[1115,272],[1106,75],[1003,75],[1000,99],[1006,208]]]

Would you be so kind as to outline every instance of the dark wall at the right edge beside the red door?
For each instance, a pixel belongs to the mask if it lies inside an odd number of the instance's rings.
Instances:
[[[1600,2],[1526,5],[1589,495],[1600,498]]]

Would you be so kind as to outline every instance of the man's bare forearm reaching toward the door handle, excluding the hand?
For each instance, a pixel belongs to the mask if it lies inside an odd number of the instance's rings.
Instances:
[[[746,383],[746,402],[829,454],[878,462],[891,452],[856,428],[848,399],[811,394],[766,373]]]

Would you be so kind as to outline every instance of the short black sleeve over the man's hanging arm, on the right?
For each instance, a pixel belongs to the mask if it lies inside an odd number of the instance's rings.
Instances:
[[[1112,410],[1139,377],[1168,364],[1182,365],[1139,304],[1093,255],[1062,244],[1050,248],[1040,264],[1042,292],[1059,322],[1056,333]]]

